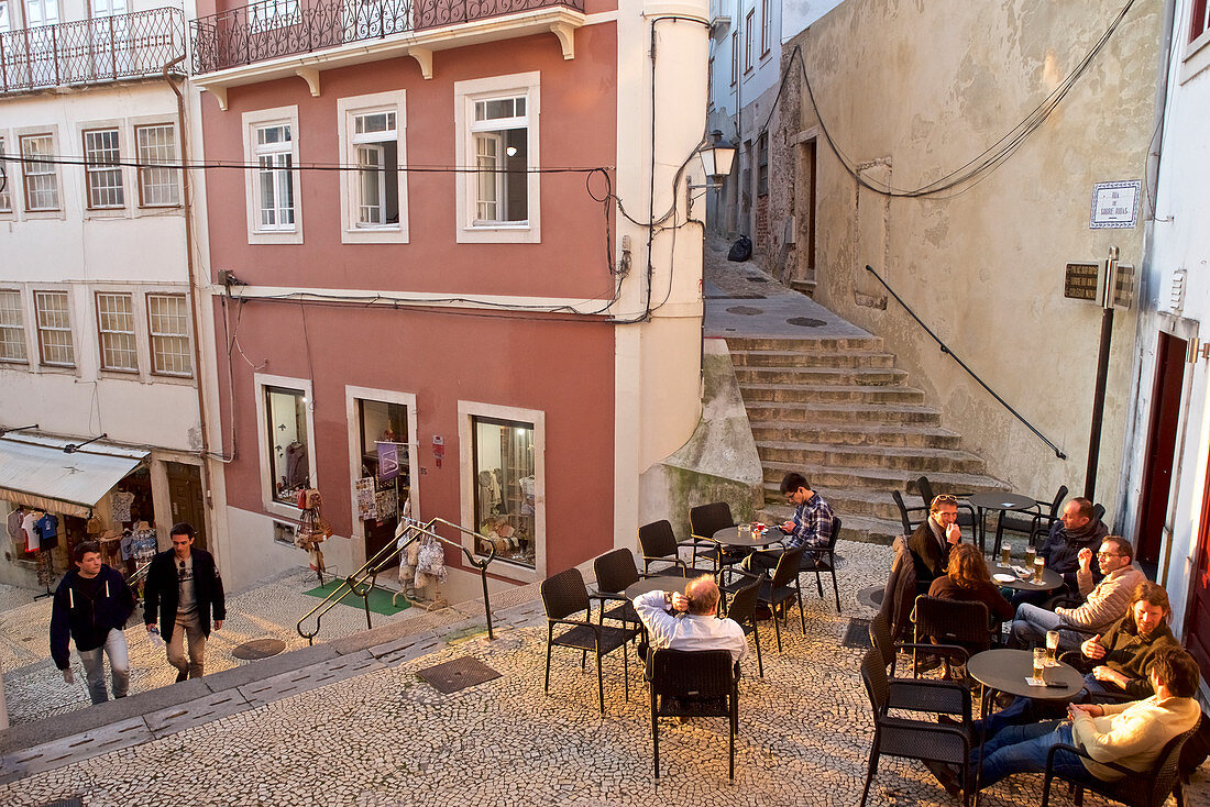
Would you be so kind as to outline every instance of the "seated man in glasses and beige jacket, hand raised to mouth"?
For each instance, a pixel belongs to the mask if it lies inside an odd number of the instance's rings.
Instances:
[[[1077,650],[1089,633],[1106,630],[1117,619],[1125,616],[1130,594],[1143,582],[1143,573],[1134,567],[1134,549],[1130,542],[1118,535],[1111,535],[1101,542],[1096,553],[1101,573],[1105,577],[1093,586],[1093,551],[1079,551],[1079,571],[1076,580],[1084,603],[1074,609],[1055,609],[1047,611],[1030,603],[1022,603],[1016,609],[1013,619],[1012,638],[1026,647],[1042,644],[1048,630],[1059,632],[1059,651]],[[1085,635],[1070,628],[1082,628]],[[1067,628],[1067,629],[1065,629]]]

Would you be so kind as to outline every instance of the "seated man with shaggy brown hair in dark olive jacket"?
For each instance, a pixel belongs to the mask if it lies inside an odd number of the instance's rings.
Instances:
[[[1096,667],[1084,676],[1085,694],[1076,699],[1104,703],[1116,701],[1113,696],[1146,698],[1154,694],[1147,667],[1159,649],[1177,646],[1168,628],[1170,613],[1168,592],[1162,586],[1150,580],[1139,583],[1127,615],[1104,635],[1093,636],[1081,645],[1084,658],[1096,662]],[[1020,726],[1061,714],[1061,707],[1050,701],[1018,698],[1007,709],[991,715],[986,725],[975,721],[974,731],[976,737],[984,730],[993,737],[1006,726]]]

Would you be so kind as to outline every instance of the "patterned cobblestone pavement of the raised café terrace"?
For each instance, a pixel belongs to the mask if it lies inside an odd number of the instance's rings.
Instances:
[[[841,638],[849,617],[872,616],[855,594],[885,580],[889,549],[842,541],[840,553],[843,616],[830,592],[820,599],[812,586],[805,590],[806,635],[794,615],[783,653],[772,635],[764,644],[764,679],[754,659],[745,662],[734,782],[727,779],[722,719],[663,725],[663,777],[652,778],[646,699],[634,663],[626,701],[621,659],[605,659],[604,716],[592,664],[581,670],[571,651],[555,651],[544,694],[546,629],[540,604],[530,601],[501,613],[495,641],[453,638],[421,658],[35,774],[0,788],[0,803],[80,796],[90,807],[855,805],[871,731],[857,674],[863,651],[842,646]],[[416,675],[465,656],[501,678],[446,696]],[[1031,806],[1039,791],[1041,777],[1014,777],[989,789],[984,803]],[[1210,803],[1206,792],[1198,777],[1187,803]],[[887,759],[870,803],[956,802],[920,763]],[[1059,803],[1068,803],[1066,792]]]

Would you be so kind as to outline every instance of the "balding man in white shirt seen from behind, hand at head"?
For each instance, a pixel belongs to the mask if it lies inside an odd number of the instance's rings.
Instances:
[[[634,598],[634,610],[647,629],[652,647],[730,650],[738,663],[748,656],[748,638],[734,619],[718,618],[720,599],[714,578],[702,575],[688,582],[684,594],[649,592]],[[668,607],[685,616],[672,616],[666,611]]]

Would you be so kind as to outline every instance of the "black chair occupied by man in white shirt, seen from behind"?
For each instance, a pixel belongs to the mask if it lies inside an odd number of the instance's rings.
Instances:
[[[651,747],[659,778],[659,717],[726,717],[728,776],[736,778],[739,686],[726,650],[656,650],[647,663],[651,679]]]

